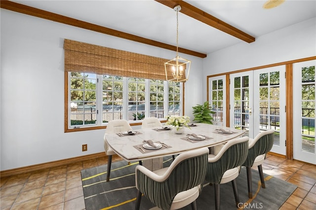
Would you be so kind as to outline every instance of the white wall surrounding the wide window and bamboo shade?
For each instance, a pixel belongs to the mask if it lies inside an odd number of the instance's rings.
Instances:
[[[103,130],[64,133],[64,38],[171,59],[175,52],[1,9],[0,171],[103,152]],[[202,103],[192,60],[185,114]],[[192,73],[194,72],[194,73]],[[81,145],[88,144],[82,152]]]

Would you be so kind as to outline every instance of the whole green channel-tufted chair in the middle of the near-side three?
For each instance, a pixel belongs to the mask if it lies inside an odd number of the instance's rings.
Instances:
[[[208,155],[206,181],[214,184],[215,209],[220,209],[220,184],[229,181],[233,184],[236,206],[239,203],[236,178],[239,175],[241,164],[247,158],[248,137],[229,140],[217,155]]]

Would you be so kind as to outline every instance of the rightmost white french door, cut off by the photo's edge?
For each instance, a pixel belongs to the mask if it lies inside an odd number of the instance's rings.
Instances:
[[[316,60],[293,65],[293,158],[316,164]]]

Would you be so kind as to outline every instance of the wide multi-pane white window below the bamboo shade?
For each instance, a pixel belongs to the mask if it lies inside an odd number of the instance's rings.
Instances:
[[[181,115],[182,83],[86,72],[67,72],[66,131],[104,128],[115,119]],[[66,124],[67,123],[67,124]]]

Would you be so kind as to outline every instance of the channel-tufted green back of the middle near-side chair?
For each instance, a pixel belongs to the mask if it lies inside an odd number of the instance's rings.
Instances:
[[[219,184],[227,170],[241,166],[248,154],[248,137],[229,140],[214,158],[208,158],[206,181]]]

